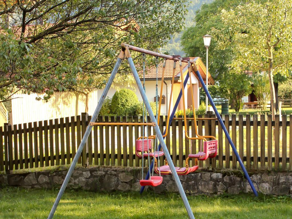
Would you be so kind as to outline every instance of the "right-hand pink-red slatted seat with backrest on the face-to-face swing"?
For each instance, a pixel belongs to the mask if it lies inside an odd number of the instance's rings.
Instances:
[[[206,160],[208,158],[216,157],[218,148],[218,140],[204,141],[203,151],[197,154],[189,154],[190,158],[197,158],[199,160]]]

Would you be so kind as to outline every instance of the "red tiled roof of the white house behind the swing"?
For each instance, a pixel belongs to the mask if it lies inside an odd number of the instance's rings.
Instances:
[[[198,57],[192,57],[192,60],[196,60]],[[163,65],[164,60],[159,64],[158,67],[158,78],[162,77],[162,65]],[[185,72],[185,68],[187,67],[187,62],[182,62],[183,65],[183,72]],[[179,62],[176,62],[175,66],[175,77],[179,77],[178,74],[180,74],[180,65]],[[172,78],[172,72],[173,72],[173,60],[166,60],[166,65],[165,65],[165,72],[164,72],[164,78]],[[139,74],[142,74],[142,71],[139,72]],[[140,78],[142,78],[140,76]],[[156,67],[151,67],[150,69],[146,69],[145,71],[145,79],[156,79]]]

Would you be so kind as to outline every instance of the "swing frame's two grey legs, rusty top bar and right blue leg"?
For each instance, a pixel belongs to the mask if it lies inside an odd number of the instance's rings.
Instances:
[[[108,93],[108,91],[109,91],[109,89],[110,89],[110,87],[112,85],[112,82],[114,80],[114,77],[117,74],[117,71],[119,69],[119,66],[120,66],[122,60],[126,59],[128,61],[128,64],[130,65],[131,71],[132,71],[133,76],[135,78],[135,81],[136,81],[136,84],[137,84],[138,89],[140,91],[140,94],[142,96],[142,99],[143,99],[143,101],[145,103],[145,107],[146,107],[146,109],[148,111],[148,114],[150,116],[150,119],[151,119],[152,122],[155,122],[155,126],[153,126],[153,128],[154,128],[155,132],[157,133],[157,137],[158,137],[158,140],[159,140],[159,146],[162,147],[162,149],[164,151],[164,155],[165,155],[166,160],[168,161],[169,167],[170,167],[170,169],[171,169],[171,171],[173,173],[172,174],[173,175],[173,178],[174,178],[175,183],[176,183],[176,185],[178,187],[178,191],[179,191],[179,193],[180,193],[180,195],[182,197],[183,203],[184,203],[185,208],[187,210],[187,214],[188,214],[188,216],[189,216],[190,219],[194,219],[194,215],[193,215],[192,209],[191,209],[190,204],[189,204],[189,202],[187,200],[187,197],[186,197],[186,194],[185,194],[185,192],[183,190],[182,184],[180,183],[180,180],[178,178],[178,174],[175,171],[175,167],[174,167],[173,162],[171,160],[171,156],[170,156],[170,154],[169,154],[169,152],[167,150],[166,144],[164,142],[164,138],[163,138],[163,136],[162,136],[162,134],[161,134],[161,132],[159,130],[159,126],[158,126],[158,124],[156,122],[156,119],[155,119],[154,114],[152,112],[152,109],[150,107],[150,104],[149,104],[149,101],[147,99],[146,93],[145,93],[145,91],[144,91],[144,89],[142,87],[142,84],[141,84],[141,81],[140,81],[138,72],[137,72],[137,70],[135,68],[135,65],[134,65],[134,62],[133,62],[133,60],[131,58],[131,53],[130,53],[129,50],[133,50],[133,51],[145,53],[145,54],[148,54],[148,55],[158,56],[158,57],[165,58],[165,59],[169,59],[169,60],[179,61],[178,58],[175,58],[175,57],[173,57],[171,55],[165,55],[165,54],[161,54],[161,53],[156,53],[156,52],[153,52],[153,51],[145,50],[145,49],[142,49],[142,48],[138,48],[138,47],[135,47],[135,46],[131,46],[131,45],[122,43],[121,44],[121,52],[120,52],[120,54],[119,54],[119,56],[117,58],[117,62],[115,64],[115,66],[114,66],[114,69],[112,70],[112,73],[111,73],[111,75],[109,77],[109,80],[108,80],[108,82],[107,82],[107,84],[105,86],[105,89],[104,89],[104,91],[103,91],[103,93],[101,95],[101,98],[100,98],[100,100],[98,102],[98,105],[97,105],[97,107],[96,107],[93,115],[92,115],[92,118],[91,118],[91,121],[90,122],[91,122],[92,125],[94,125],[93,123],[96,121],[96,119],[98,117],[98,114],[100,112],[100,109],[102,107],[102,104],[105,101],[105,98],[107,97],[107,93]],[[183,62],[187,62],[185,60],[182,60],[182,61]],[[190,60],[190,63],[193,64],[194,61],[193,60]],[[221,119],[220,114],[218,113],[218,111],[217,111],[217,109],[215,107],[215,104],[214,104],[214,102],[213,102],[210,94],[208,93],[208,91],[206,89],[206,86],[204,84],[204,81],[203,81],[203,79],[202,79],[202,77],[201,77],[201,75],[200,75],[200,73],[197,70],[197,68],[196,68],[195,65],[194,65],[194,68],[196,70],[196,74],[197,74],[197,76],[198,76],[198,78],[199,78],[199,80],[200,80],[200,82],[201,82],[204,90],[207,93],[208,99],[210,100],[210,103],[211,103],[211,105],[212,105],[212,107],[213,107],[213,109],[215,111],[215,114],[216,114],[216,116],[218,118],[218,121],[220,122],[220,124],[221,124],[221,126],[222,126],[222,128],[223,128],[223,130],[224,130],[224,132],[225,132],[225,134],[226,134],[226,136],[227,136],[227,138],[228,138],[228,140],[230,142],[230,145],[231,145],[231,147],[232,147],[232,149],[233,149],[233,151],[234,151],[234,153],[235,153],[235,155],[237,157],[237,160],[239,161],[239,164],[240,164],[241,168],[244,171],[244,175],[246,176],[249,184],[251,185],[251,188],[252,188],[254,194],[257,196],[257,192],[256,192],[256,190],[255,190],[255,188],[253,186],[253,183],[251,182],[251,179],[249,178],[249,175],[248,175],[248,173],[247,173],[247,171],[246,171],[246,169],[244,167],[244,164],[242,163],[242,161],[241,161],[241,159],[239,157],[239,154],[237,153],[236,148],[234,147],[234,144],[233,144],[233,142],[232,142],[232,140],[230,138],[230,135],[228,134],[228,132],[227,132],[227,130],[226,130],[224,124],[223,124],[223,120]],[[186,83],[187,83],[187,78],[186,78],[186,81],[184,81],[184,85]],[[172,118],[170,117],[169,119],[172,119]],[[72,164],[69,167],[69,170],[67,172],[67,175],[65,177],[65,180],[64,180],[64,182],[63,182],[63,184],[62,184],[62,186],[60,188],[60,191],[59,191],[59,193],[58,193],[58,195],[56,197],[56,200],[55,200],[55,202],[54,202],[54,204],[52,206],[52,209],[51,209],[51,211],[50,211],[50,213],[48,215],[48,219],[52,219],[53,216],[54,216],[54,213],[55,213],[55,211],[56,211],[56,209],[58,207],[58,204],[60,202],[60,199],[62,198],[62,195],[65,192],[65,189],[67,187],[67,184],[69,183],[70,177],[71,177],[71,175],[72,175],[72,173],[74,171],[74,168],[75,168],[75,166],[77,164],[77,161],[78,161],[78,159],[79,159],[79,157],[81,155],[81,152],[82,152],[82,150],[84,148],[84,145],[86,144],[86,141],[88,139],[88,136],[91,133],[92,125],[89,125],[86,128],[86,131],[85,131],[84,136],[83,136],[83,138],[82,138],[82,140],[80,142],[80,145],[78,147],[78,150],[76,152],[76,155],[75,155],[74,159],[72,160]]]

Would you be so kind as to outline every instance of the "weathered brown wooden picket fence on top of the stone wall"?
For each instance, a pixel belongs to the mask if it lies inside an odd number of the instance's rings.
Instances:
[[[203,117],[215,117],[204,115]],[[199,115],[202,117],[202,115]],[[292,115],[289,116],[291,120]],[[50,119],[28,124],[0,127],[0,171],[70,164],[91,116]],[[166,117],[167,119],[167,117]],[[287,116],[276,115],[225,115],[225,126],[237,147],[239,156],[247,169],[252,170],[292,170],[292,123]],[[148,118],[149,120],[149,118]],[[78,161],[82,165],[140,166],[135,156],[135,139],[142,133],[142,126],[132,126],[126,122],[139,122],[141,117],[98,117],[98,121],[125,122],[123,126],[94,126]],[[160,130],[165,128],[165,118],[160,119]],[[199,167],[214,169],[239,168],[222,127],[217,120],[197,121],[199,134],[216,135],[218,155],[213,159],[199,161]],[[145,127],[146,128],[146,127]],[[145,133],[146,133],[145,129]],[[188,120],[187,129],[182,119],[171,123],[166,136],[166,146],[176,166],[184,166],[190,153],[198,152],[200,142],[185,139],[185,131],[194,136],[194,121]],[[153,134],[148,127],[148,134]],[[163,158],[161,157],[161,162]],[[194,160],[190,165],[194,165]]]

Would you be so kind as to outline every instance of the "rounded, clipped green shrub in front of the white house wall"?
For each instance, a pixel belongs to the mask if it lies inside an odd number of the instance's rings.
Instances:
[[[133,107],[138,103],[138,97],[134,91],[123,88],[117,91],[112,97],[112,113],[119,116],[130,115],[133,113]]]

